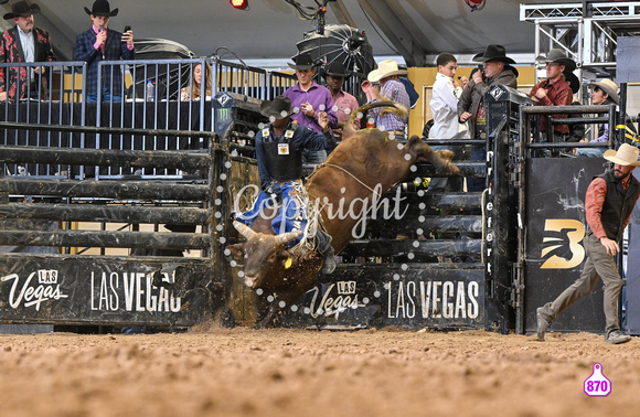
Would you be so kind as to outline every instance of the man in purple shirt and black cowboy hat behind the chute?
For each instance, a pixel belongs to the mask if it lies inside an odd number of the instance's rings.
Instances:
[[[294,57],[295,65],[289,66],[296,70],[298,83],[287,89],[284,94],[291,100],[294,115],[291,119],[300,126],[305,126],[318,133],[322,133],[322,128],[318,124],[318,114],[326,111],[329,117],[329,127],[338,127],[338,116],[333,110],[333,98],[327,87],[322,87],[313,82],[316,68],[313,60],[309,54],[300,54]],[[322,163],[327,159],[324,149],[319,151],[306,151],[303,163]]]

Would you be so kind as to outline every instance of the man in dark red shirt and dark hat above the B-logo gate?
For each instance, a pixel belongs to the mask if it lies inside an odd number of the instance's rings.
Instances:
[[[563,50],[553,49],[545,56],[536,57],[536,61],[546,63],[546,79],[537,83],[531,89],[531,99],[541,106],[569,106],[573,101],[572,87],[568,77],[573,75],[576,63],[567,57]],[[566,118],[567,115],[554,115],[554,118]],[[543,141],[546,141],[547,117],[540,117],[540,131]],[[553,127],[554,142],[564,142],[569,137],[568,125],[555,125]]]

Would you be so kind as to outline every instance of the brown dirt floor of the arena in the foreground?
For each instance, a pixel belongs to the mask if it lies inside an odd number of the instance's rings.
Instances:
[[[640,340],[196,329],[0,335],[4,416],[631,416]],[[595,362],[611,381],[590,398]]]

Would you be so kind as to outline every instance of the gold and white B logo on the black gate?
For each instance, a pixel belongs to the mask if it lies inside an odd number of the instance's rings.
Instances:
[[[580,245],[584,237],[585,226],[582,222],[546,220],[541,256],[547,259],[540,269],[570,269],[580,265],[585,259],[585,248]]]

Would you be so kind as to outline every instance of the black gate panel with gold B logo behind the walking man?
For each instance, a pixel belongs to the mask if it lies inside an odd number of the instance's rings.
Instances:
[[[534,158],[526,165],[525,331],[535,332],[535,310],[553,301],[583,271],[587,228],[585,194],[605,172],[601,158]],[[554,331],[602,333],[602,286],[575,302],[552,324]]]

